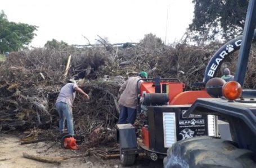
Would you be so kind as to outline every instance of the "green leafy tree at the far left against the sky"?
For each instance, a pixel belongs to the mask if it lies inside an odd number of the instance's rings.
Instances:
[[[0,53],[24,48],[34,36],[37,26],[9,22],[3,11],[0,12]]]

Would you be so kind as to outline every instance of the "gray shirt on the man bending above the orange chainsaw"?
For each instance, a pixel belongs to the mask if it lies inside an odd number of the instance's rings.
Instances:
[[[66,104],[72,106],[75,99],[75,87],[78,87],[75,83],[67,83],[60,90],[60,94],[56,100],[57,102],[65,102]]]

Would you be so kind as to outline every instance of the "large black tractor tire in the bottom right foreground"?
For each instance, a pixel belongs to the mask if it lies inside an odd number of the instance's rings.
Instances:
[[[167,151],[164,167],[256,167],[252,151],[216,137],[193,137],[178,141]]]

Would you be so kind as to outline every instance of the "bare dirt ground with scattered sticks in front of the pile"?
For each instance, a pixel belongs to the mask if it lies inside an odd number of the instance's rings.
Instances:
[[[49,157],[64,157],[77,155],[71,150],[65,150],[56,143],[50,149],[53,142],[40,142],[36,144],[20,144],[20,138],[13,134],[0,133],[0,167],[1,168],[41,168],[41,167],[123,167],[119,159],[98,160],[93,156],[83,158],[70,158],[62,161],[60,165],[30,160],[23,157],[23,152],[29,155],[43,155]],[[47,150],[47,151],[44,151]],[[163,161],[153,162],[147,158],[137,158],[131,167],[163,167]]]

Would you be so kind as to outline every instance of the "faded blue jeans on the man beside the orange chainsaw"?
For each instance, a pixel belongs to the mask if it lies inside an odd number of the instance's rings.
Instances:
[[[75,134],[73,128],[73,114],[71,106],[66,104],[65,102],[57,102],[56,108],[60,116],[59,131],[63,132],[66,120],[68,125],[68,132],[71,136],[74,136]]]

